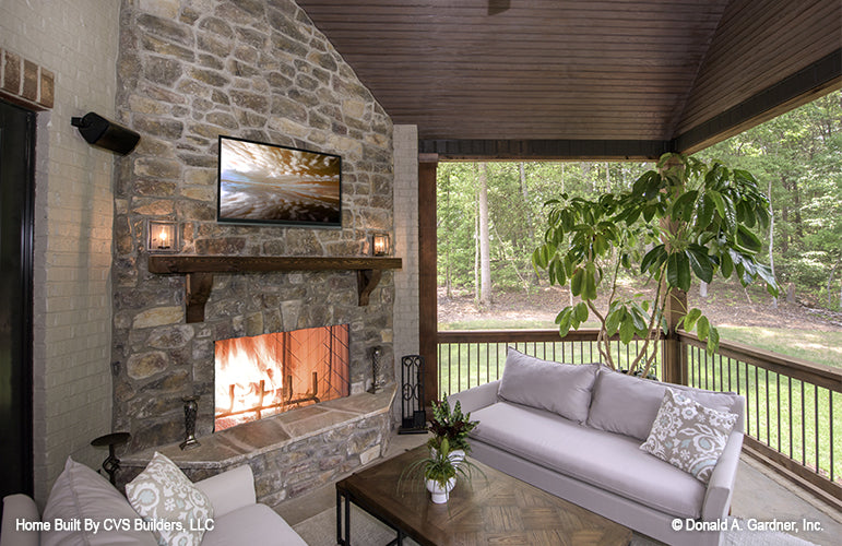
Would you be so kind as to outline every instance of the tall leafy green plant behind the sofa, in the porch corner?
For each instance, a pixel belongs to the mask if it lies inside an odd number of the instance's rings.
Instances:
[[[675,309],[693,278],[710,283],[719,275],[736,275],[746,286],[757,278],[773,296],[778,284],[770,268],[757,259],[762,244],[755,233],[767,229],[769,200],[747,171],[705,163],[680,154],[664,154],[656,170],[643,174],[631,189],[595,200],[562,194],[547,202],[544,242],[532,261],[546,270],[550,284],[569,285],[580,301],[556,317],[564,337],[589,318],[598,321],[602,360],[618,368],[608,349],[619,335],[624,344],[636,336],[644,342],[628,373],[649,376],[666,329],[667,302],[677,327],[696,330],[709,353],[719,346],[719,332],[697,309]],[[621,272],[645,275],[653,294],[621,295]],[[603,296],[606,305],[597,308]]]

